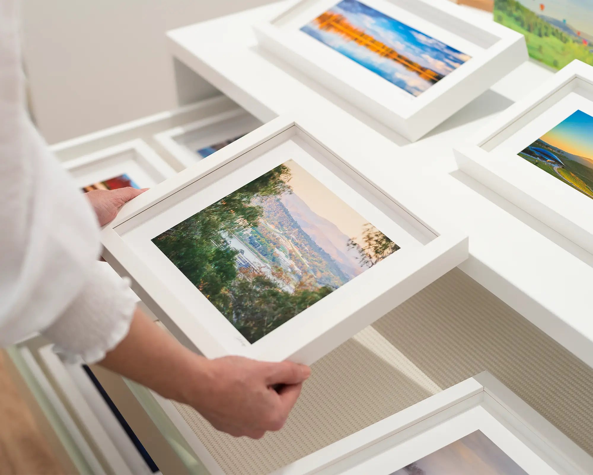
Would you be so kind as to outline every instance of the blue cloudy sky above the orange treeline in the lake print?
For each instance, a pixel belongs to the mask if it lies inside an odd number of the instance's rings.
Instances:
[[[353,26],[365,30],[398,53],[442,75],[470,59],[457,49],[356,0],[343,0],[330,10],[344,15]]]

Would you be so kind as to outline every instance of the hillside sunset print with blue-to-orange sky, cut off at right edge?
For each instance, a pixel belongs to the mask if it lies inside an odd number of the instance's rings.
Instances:
[[[577,110],[519,157],[593,198],[593,117]]]

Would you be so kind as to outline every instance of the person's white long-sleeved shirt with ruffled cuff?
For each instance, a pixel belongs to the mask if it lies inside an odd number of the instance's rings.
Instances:
[[[93,210],[25,112],[18,39],[17,0],[0,0],[0,346],[42,332],[92,363],[135,298],[97,262]]]

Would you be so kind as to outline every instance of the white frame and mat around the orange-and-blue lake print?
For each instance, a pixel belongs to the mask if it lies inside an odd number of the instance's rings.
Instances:
[[[427,134],[528,59],[522,34],[459,5],[441,0],[374,0],[405,14],[413,23],[410,26],[423,33],[443,40],[457,37],[476,50],[470,60],[419,96],[401,94],[396,85],[299,31],[338,2],[300,0],[272,21],[254,26],[256,36],[283,61],[410,141]],[[295,26],[307,12],[310,18]]]

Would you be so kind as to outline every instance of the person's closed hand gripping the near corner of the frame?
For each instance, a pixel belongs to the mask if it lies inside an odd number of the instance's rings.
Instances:
[[[204,363],[186,402],[216,429],[235,437],[260,439],[268,430],[282,429],[302,382],[311,375],[308,366],[288,361],[225,356]]]

